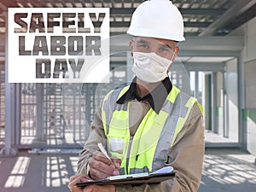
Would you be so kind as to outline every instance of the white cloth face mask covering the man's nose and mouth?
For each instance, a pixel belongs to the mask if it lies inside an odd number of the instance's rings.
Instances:
[[[160,55],[143,52],[133,52],[132,71],[137,78],[147,83],[160,82],[166,79],[167,70],[172,65],[172,61]]]

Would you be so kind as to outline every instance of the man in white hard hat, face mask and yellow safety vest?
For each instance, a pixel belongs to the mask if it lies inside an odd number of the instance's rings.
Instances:
[[[128,30],[135,74],[130,86],[112,90],[102,101],[90,137],[79,154],[73,192],[197,191],[201,182],[204,127],[201,105],[175,87],[168,71],[183,41],[183,17],[168,0],[139,5]],[[97,147],[102,143],[109,160]],[[172,166],[175,177],[154,184],[75,183]]]

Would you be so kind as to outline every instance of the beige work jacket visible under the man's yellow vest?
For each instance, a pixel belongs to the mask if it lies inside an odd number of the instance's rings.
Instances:
[[[150,108],[148,102],[131,101],[129,124],[131,135],[134,135],[139,123]],[[97,143],[107,143],[102,125],[102,110],[98,108],[91,125],[90,136],[79,154],[78,174],[88,172],[87,164],[91,154],[98,151]],[[169,152],[166,166],[173,166],[177,172],[173,179],[161,183],[143,184],[140,186],[116,185],[116,192],[195,192],[201,182],[205,135],[200,108],[195,105],[189,113],[182,131],[179,132]]]

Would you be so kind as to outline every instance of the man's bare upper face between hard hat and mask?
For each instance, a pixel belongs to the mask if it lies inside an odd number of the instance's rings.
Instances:
[[[179,48],[177,42],[163,38],[136,37],[130,42],[131,55],[133,51],[151,53],[154,52],[168,60],[174,60]]]

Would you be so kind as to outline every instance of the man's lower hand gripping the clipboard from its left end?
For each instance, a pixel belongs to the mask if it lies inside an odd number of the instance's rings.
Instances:
[[[90,180],[90,177],[86,175],[74,175],[70,177],[70,181],[68,183],[68,188],[71,192],[114,192],[114,185],[89,185],[84,189],[76,186],[76,183],[85,182]]]

